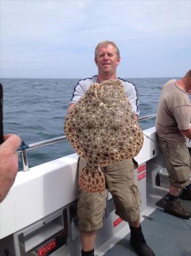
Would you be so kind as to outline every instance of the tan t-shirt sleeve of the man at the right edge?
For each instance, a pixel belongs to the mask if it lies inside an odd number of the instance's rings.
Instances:
[[[173,110],[173,115],[176,119],[179,130],[187,130],[190,126],[190,106],[179,106]]]

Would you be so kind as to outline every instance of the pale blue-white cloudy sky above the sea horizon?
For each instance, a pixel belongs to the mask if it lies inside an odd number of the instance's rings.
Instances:
[[[120,77],[181,77],[191,68],[189,0],[0,2],[1,77],[91,77],[102,40],[120,48]]]

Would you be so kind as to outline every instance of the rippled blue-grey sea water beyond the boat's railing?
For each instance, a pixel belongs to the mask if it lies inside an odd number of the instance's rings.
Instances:
[[[137,86],[140,117],[156,113],[160,89],[170,79],[126,79]],[[27,144],[63,136],[63,122],[74,86],[79,80],[1,79],[4,133],[18,134]],[[140,125],[147,129],[155,125],[155,119],[141,121]],[[73,152],[67,141],[52,144],[28,151],[28,164],[33,167]],[[21,162],[19,169],[22,169]]]

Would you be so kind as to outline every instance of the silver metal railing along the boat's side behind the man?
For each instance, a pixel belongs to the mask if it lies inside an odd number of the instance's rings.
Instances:
[[[154,118],[154,117],[156,117],[156,114],[145,115],[143,117],[139,117],[138,121],[143,121],[143,120]],[[21,156],[22,156],[23,171],[24,172],[29,171],[28,159],[27,159],[27,151],[28,150],[32,150],[34,148],[39,148],[39,147],[44,147],[44,146],[47,146],[50,144],[54,144],[54,143],[58,143],[58,142],[66,141],[66,140],[67,140],[66,136],[61,136],[61,137],[47,139],[46,141],[36,142],[36,143],[28,144],[28,145],[24,144],[25,147],[23,147],[22,150],[18,151],[18,153],[21,153]]]

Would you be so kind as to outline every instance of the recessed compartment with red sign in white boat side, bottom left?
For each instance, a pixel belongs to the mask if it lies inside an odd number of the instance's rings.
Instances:
[[[45,256],[66,246],[67,208],[57,210],[14,234],[15,256]]]

